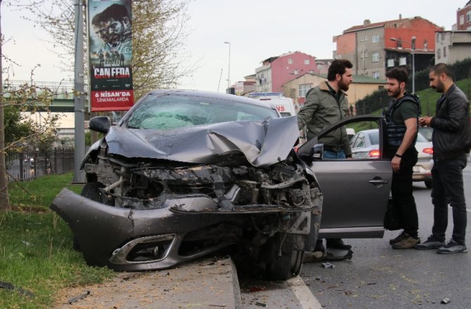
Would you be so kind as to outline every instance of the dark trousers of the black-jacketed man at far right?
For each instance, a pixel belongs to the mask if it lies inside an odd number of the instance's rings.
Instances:
[[[452,238],[459,244],[465,244],[467,213],[463,189],[463,169],[466,164],[465,154],[452,159],[434,160],[432,168],[432,204],[434,205],[432,234],[440,242],[445,241],[448,204],[450,204],[453,209]]]

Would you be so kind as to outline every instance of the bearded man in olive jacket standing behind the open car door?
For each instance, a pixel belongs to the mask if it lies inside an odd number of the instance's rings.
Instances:
[[[319,86],[311,88],[306,94],[306,103],[297,114],[297,126],[302,130],[307,126],[307,139],[345,118],[348,110],[347,91],[353,81],[349,60],[334,60],[330,65],[327,79]],[[344,126],[319,139],[324,144],[323,159],[345,159],[351,157],[351,147]],[[351,246],[344,244],[342,239],[327,239],[327,249],[340,249],[347,254],[331,259],[351,258]],[[323,240],[318,239],[312,252],[313,261],[320,261],[326,256]],[[310,260],[308,258],[307,260]],[[305,260],[305,261],[307,261]]]

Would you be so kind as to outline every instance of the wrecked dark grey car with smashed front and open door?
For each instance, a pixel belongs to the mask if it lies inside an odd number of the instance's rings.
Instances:
[[[287,279],[319,232],[384,233],[389,163],[319,161],[316,140],[297,154],[297,118],[273,105],[159,90],[117,126],[96,117],[90,129],[106,136],[86,154],[82,195],[64,189],[51,205],[90,265],[162,269],[235,246],[269,277]]]

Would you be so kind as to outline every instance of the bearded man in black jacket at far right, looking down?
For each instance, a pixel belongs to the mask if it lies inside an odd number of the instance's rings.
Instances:
[[[430,86],[443,93],[437,101],[435,117],[420,119],[420,126],[432,126],[434,166],[432,168],[432,235],[416,249],[437,249],[439,254],[467,252],[465,244],[467,213],[463,190],[463,169],[470,150],[470,103],[453,82],[453,74],[444,63],[430,70]],[[445,244],[448,204],[453,209],[453,235]]]

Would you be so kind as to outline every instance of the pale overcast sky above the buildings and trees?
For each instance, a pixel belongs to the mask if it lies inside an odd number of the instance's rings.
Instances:
[[[73,1],[73,0],[70,0]],[[231,84],[255,73],[262,60],[301,51],[318,59],[332,58],[333,37],[344,29],[362,25],[363,20],[385,20],[420,16],[446,30],[456,23],[456,11],[468,0],[191,0],[188,6],[190,57],[185,67],[196,67],[191,77],[181,79],[179,88],[225,92]],[[62,72],[47,35],[20,19],[1,2],[1,31],[6,43],[3,53],[20,63],[9,70],[13,80],[72,81]],[[230,44],[224,44],[230,42]],[[230,48],[230,57],[229,57]],[[4,64],[5,68],[5,64]],[[14,72],[14,74],[13,74]]]

